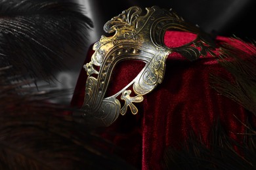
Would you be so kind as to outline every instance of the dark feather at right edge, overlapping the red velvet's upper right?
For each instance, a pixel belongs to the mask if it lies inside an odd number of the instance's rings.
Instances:
[[[233,81],[225,73],[211,74],[211,87],[256,116],[256,46],[253,42],[232,39],[236,45],[222,44],[218,59]]]

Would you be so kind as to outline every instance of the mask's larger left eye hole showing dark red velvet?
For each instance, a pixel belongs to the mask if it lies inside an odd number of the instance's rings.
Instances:
[[[127,86],[139,75],[146,63],[139,60],[123,60],[117,63],[112,71],[108,90],[104,97],[110,97]]]

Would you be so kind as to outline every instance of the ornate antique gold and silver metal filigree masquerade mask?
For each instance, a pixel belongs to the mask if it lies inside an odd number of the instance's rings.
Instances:
[[[197,37],[183,46],[168,48],[163,39],[165,31],[170,29],[195,33]],[[128,109],[137,114],[136,103],[142,102],[143,95],[152,92],[163,81],[165,61],[172,52],[179,52],[190,61],[208,52],[213,54],[213,42],[209,35],[184,22],[172,10],[156,6],[146,8],[146,14],[142,14],[139,7],[124,10],[106,22],[104,31],[114,35],[102,35],[100,41],[94,44],[95,53],[91,61],[83,66],[88,75],[84,103],[73,114],[95,126],[110,126],[119,114],[124,115]],[[112,71],[123,60],[143,61],[145,66],[122,90],[105,97],[110,78],[114,76]],[[124,104],[121,105],[119,100],[123,100]]]

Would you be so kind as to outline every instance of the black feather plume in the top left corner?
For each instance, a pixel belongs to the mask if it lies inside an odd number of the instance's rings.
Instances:
[[[74,1],[1,0],[0,67],[49,80],[72,57],[67,49],[84,48],[92,27]]]

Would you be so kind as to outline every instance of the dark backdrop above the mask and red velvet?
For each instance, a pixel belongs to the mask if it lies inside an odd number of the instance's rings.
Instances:
[[[90,1],[90,0],[83,0]],[[89,8],[93,12],[98,34],[104,34],[103,25],[120,14],[123,10],[137,5],[144,9],[157,5],[165,9],[173,9],[185,20],[200,27],[208,33],[232,36],[244,39],[255,39],[255,0],[130,0],[100,1],[93,0]]]

